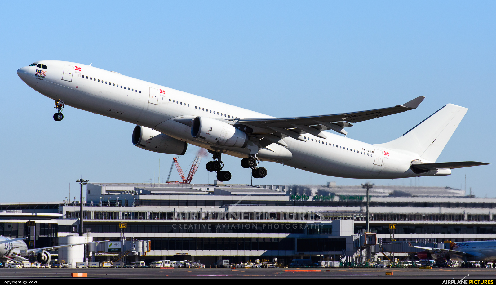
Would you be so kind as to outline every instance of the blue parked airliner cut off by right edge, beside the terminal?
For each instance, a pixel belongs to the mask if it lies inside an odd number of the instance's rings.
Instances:
[[[411,243],[409,243],[412,246]],[[413,246],[423,249],[419,259],[451,259],[460,261],[496,261],[496,240],[451,242],[450,249]]]

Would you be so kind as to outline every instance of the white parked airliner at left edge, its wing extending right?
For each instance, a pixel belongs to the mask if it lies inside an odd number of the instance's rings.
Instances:
[[[28,253],[33,252],[36,254],[36,260],[38,262],[43,264],[49,264],[50,261],[52,260],[52,255],[48,252],[49,250],[54,250],[68,246],[72,247],[75,245],[105,242],[105,241],[93,241],[93,242],[73,243],[73,244],[64,244],[58,246],[28,249],[28,246],[24,242],[25,239],[27,239],[27,237],[11,238],[6,236],[0,236],[0,259],[8,259],[17,263],[21,263],[23,261],[28,261],[28,259],[25,258],[24,256],[27,256]]]

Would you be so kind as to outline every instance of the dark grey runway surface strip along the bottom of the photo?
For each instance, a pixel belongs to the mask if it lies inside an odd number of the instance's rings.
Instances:
[[[86,272],[89,279],[496,279],[496,269],[490,268],[2,268],[0,279],[63,279],[73,272]]]

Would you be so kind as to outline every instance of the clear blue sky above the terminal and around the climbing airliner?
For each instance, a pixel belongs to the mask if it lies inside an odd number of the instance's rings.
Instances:
[[[469,108],[441,161],[495,163],[494,1],[6,1],[0,11],[2,202],[61,201],[76,179],[166,177],[172,155],[131,144],[134,125],[54,102],[16,74],[66,60],[276,117],[388,107],[426,96],[417,110],[357,123],[349,137],[391,141],[446,103]],[[179,161],[184,168],[197,148]],[[211,157],[211,155],[210,155]],[[213,182],[202,161],[193,183]],[[249,183],[225,157],[232,183]],[[255,184],[356,185],[263,162]],[[472,187],[495,197],[495,166],[382,185]],[[179,179],[174,170],[173,179]]]

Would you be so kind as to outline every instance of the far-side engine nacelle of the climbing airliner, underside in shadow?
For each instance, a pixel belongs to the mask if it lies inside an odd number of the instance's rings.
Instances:
[[[160,153],[183,155],[187,149],[187,143],[142,126],[134,127],[131,139],[139,148]]]

